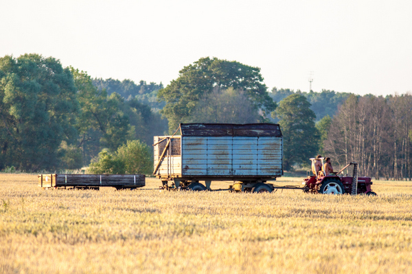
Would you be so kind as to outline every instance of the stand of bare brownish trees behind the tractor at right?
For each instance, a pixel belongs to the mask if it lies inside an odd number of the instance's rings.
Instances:
[[[333,117],[324,149],[377,179],[411,178],[412,95],[351,95]]]

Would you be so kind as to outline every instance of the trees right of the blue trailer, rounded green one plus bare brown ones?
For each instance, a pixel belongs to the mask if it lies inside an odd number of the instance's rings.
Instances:
[[[308,167],[317,154],[334,168],[358,162],[359,174],[411,179],[412,95],[348,95],[334,116],[316,115],[300,92],[279,102],[273,118],[284,134],[284,169]]]

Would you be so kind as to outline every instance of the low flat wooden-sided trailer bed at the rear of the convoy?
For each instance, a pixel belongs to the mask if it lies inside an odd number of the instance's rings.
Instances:
[[[111,186],[117,189],[141,188],[146,185],[146,176],[131,175],[95,175],[95,174],[41,174],[38,186],[42,188],[100,188]]]

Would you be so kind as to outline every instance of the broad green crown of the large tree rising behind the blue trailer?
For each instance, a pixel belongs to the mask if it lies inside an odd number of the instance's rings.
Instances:
[[[179,123],[189,122],[196,105],[206,93],[217,86],[244,90],[256,109],[262,110],[262,120],[275,110],[276,103],[268,95],[260,69],[236,61],[201,58],[179,71],[179,77],[159,90],[158,98],[166,105],[161,114],[168,118],[169,131]]]

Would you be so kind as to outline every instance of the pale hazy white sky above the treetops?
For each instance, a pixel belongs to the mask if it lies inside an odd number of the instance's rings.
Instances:
[[[0,56],[41,53],[92,77],[168,84],[201,57],[268,88],[412,91],[412,1],[5,1]]]

